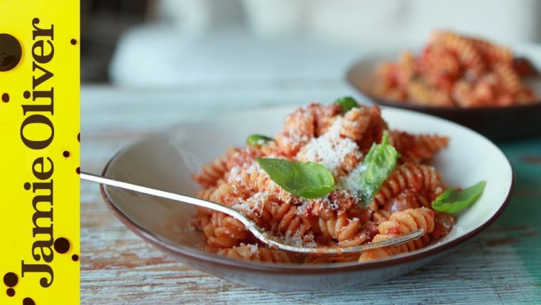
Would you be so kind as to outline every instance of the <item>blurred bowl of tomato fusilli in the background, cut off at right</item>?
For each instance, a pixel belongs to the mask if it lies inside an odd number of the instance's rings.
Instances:
[[[490,140],[541,135],[541,46],[513,51],[436,31],[421,50],[365,56],[347,80],[374,103],[453,120]]]

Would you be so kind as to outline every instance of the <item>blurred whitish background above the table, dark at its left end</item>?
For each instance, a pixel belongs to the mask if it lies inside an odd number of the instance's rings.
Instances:
[[[137,88],[343,78],[432,29],[541,42],[535,0],[85,0],[82,14],[83,81]]]

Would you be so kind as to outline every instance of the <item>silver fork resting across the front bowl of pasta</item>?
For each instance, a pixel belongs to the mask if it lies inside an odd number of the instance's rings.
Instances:
[[[394,237],[392,239],[384,240],[383,242],[362,244],[360,246],[354,246],[354,247],[299,247],[293,244],[286,244],[280,241],[278,237],[275,237],[273,236],[273,234],[258,227],[255,222],[253,222],[248,217],[244,216],[244,214],[241,214],[241,212],[233,210],[230,207],[226,207],[224,205],[219,205],[214,202],[201,200],[199,198],[190,197],[187,195],[180,195],[173,192],[167,192],[164,190],[157,190],[151,187],[144,187],[142,185],[134,185],[128,182],[112,180],[100,175],[90,174],[88,172],[80,172],[80,178],[83,180],[98,182],[103,185],[108,185],[110,187],[120,187],[125,190],[141,192],[147,195],[167,198],[170,200],[175,200],[177,202],[189,203],[190,205],[197,205],[199,207],[206,207],[207,209],[223,212],[232,217],[235,217],[240,222],[242,222],[246,226],[246,229],[248,229],[248,231],[250,231],[257,239],[261,240],[261,242],[264,242],[265,244],[268,244],[271,247],[283,249],[285,251],[290,251],[290,252],[317,253],[317,254],[341,254],[341,253],[362,252],[369,249],[376,249],[376,248],[394,246],[396,244],[404,244],[406,242],[411,242],[412,240],[417,239],[424,234],[423,229],[417,229],[413,232],[409,232],[408,234],[404,234],[398,237]]]

